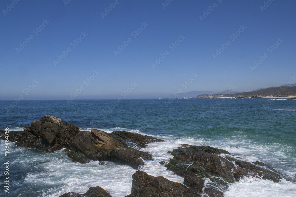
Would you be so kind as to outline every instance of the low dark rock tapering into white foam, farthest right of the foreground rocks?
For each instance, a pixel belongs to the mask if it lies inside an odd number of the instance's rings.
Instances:
[[[278,183],[279,179],[281,178],[277,173],[272,172],[270,170],[263,169],[262,167],[253,165],[250,162],[237,160],[235,164],[242,168],[242,170],[238,168],[235,169],[238,177],[240,177],[239,176],[240,174],[243,176],[246,176],[244,171],[246,172],[249,171],[249,172],[252,172],[252,176],[258,176],[258,177],[261,177],[262,179],[272,180],[276,183]]]

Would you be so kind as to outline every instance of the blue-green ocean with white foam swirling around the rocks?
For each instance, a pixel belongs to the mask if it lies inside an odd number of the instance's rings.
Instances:
[[[282,173],[279,183],[243,178],[229,184],[224,196],[296,196],[296,100],[270,99],[129,99],[0,101],[0,129],[22,130],[44,115],[73,123],[80,130],[129,131],[164,139],[148,144],[154,161],[139,167],[152,176],[183,183],[159,164],[167,152],[192,144],[225,149],[235,157],[264,164]],[[10,107],[10,108],[9,108]],[[113,197],[131,193],[130,166],[114,162],[72,162],[63,150],[46,153],[9,142],[9,193],[4,192],[4,141],[0,140],[0,196],[57,197],[85,193],[100,186]]]

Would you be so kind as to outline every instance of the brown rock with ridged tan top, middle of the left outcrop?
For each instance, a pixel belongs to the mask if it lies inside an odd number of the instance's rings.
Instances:
[[[149,153],[128,147],[112,134],[97,129],[93,129],[91,132],[79,131],[71,141],[69,148],[73,154],[68,154],[68,156],[81,163],[85,162],[87,158],[120,162],[137,169],[139,165],[144,165],[142,159],[153,160]]]

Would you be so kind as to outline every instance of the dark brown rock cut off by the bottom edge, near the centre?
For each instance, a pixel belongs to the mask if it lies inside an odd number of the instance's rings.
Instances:
[[[143,171],[133,175],[131,194],[126,197],[199,197],[199,192],[187,188],[181,183],[170,181],[162,176],[153,177]]]

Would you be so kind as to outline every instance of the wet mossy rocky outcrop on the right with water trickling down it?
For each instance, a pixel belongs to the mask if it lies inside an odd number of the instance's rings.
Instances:
[[[183,176],[184,184],[188,187],[208,196],[223,196],[228,183],[234,183],[244,176],[260,177],[274,182],[279,182],[280,178],[275,170],[260,167],[264,165],[262,162],[256,161],[254,162],[256,165],[253,165],[250,162],[234,159],[226,150],[210,146],[183,144],[170,153],[174,158],[170,159],[165,167]],[[217,154],[223,154],[227,159]]]

